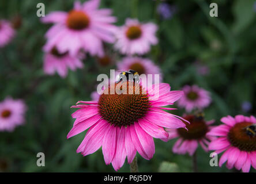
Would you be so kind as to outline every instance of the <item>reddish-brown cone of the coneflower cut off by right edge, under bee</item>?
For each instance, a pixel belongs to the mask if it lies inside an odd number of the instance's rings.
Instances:
[[[242,151],[256,151],[256,136],[249,135],[246,131],[246,127],[252,124],[251,122],[235,124],[228,133],[228,140],[231,145]]]

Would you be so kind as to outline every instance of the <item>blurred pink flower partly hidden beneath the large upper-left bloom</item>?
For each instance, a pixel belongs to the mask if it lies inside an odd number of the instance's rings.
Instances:
[[[44,72],[48,75],[53,75],[57,71],[62,78],[65,78],[68,68],[74,71],[82,67],[84,64],[78,56],[71,56],[69,52],[59,53],[56,47],[44,55]]]

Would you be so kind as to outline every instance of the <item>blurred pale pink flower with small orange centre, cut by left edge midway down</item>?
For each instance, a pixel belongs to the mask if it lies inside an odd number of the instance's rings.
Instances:
[[[24,123],[27,106],[21,99],[14,100],[7,97],[0,102],[0,131],[13,131],[15,127]]]

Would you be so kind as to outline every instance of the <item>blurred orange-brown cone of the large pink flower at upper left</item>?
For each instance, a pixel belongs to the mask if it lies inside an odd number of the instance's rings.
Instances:
[[[71,10],[67,17],[66,24],[70,29],[82,30],[89,26],[90,19],[84,11]]]

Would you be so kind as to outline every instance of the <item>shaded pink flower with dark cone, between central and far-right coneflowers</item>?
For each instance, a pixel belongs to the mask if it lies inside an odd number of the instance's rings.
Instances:
[[[206,133],[210,131],[213,127],[210,126],[213,124],[214,120],[205,121],[203,117],[197,117],[193,114],[189,114],[183,116],[183,118],[190,122],[186,124],[185,128],[178,128],[178,129],[165,129],[169,136],[168,140],[179,138],[172,151],[175,154],[186,154],[188,153],[192,156],[198,148],[198,144],[207,152],[208,151],[208,144],[209,141],[213,138],[211,136],[207,136]]]

